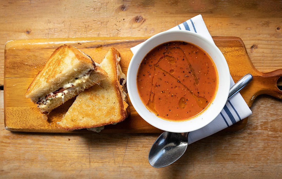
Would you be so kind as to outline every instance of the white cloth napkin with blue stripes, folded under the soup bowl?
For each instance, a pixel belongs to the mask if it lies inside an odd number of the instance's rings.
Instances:
[[[210,33],[204,23],[204,20],[201,15],[197,15],[188,21],[185,21],[178,26],[175,26],[169,30],[189,30],[196,32],[204,36],[210,42],[213,42]],[[132,47],[130,50],[132,53],[135,53],[140,47],[141,44]],[[234,84],[234,81],[230,75],[230,87]],[[228,100],[222,109],[221,113],[212,121],[210,124],[202,127],[201,129],[192,131],[188,135],[188,144],[191,144],[197,140],[208,137],[222,129],[235,124],[236,122],[248,117],[252,114],[252,111],[244,101],[240,93],[237,93],[232,99]]]

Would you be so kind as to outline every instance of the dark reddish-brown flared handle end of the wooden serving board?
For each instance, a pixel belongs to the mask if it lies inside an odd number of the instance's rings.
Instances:
[[[261,94],[267,94],[282,99],[282,91],[277,87],[277,80],[282,77],[282,69],[263,73],[261,77],[261,82],[265,87],[261,90]]]

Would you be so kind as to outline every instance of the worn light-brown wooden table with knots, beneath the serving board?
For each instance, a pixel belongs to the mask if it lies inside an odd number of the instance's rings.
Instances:
[[[9,40],[152,36],[198,14],[212,36],[241,37],[258,70],[282,68],[282,4],[277,1],[28,0],[4,1],[0,8],[1,86]],[[0,178],[281,178],[281,104],[258,97],[244,129],[197,141],[175,164],[155,169],[147,154],[159,134],[5,130],[1,90]]]

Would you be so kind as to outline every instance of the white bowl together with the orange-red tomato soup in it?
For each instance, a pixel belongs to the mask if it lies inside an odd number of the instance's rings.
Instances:
[[[129,98],[149,124],[189,132],[209,124],[224,107],[230,73],[221,51],[201,35],[184,30],[149,38],[127,71]]]

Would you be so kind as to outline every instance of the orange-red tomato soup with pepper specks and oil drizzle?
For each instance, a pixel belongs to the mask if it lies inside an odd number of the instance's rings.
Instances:
[[[217,70],[210,56],[198,46],[182,41],[166,42],[142,60],[137,89],[142,102],[158,117],[188,120],[213,101]]]

